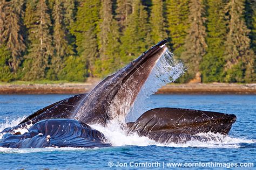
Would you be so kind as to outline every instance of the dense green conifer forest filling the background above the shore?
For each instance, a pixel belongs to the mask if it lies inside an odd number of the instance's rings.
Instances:
[[[0,0],[0,81],[105,77],[159,40],[178,82],[255,82],[254,0]]]

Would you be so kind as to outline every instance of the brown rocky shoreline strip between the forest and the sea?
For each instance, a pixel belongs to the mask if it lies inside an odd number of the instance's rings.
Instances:
[[[81,94],[97,83],[0,84],[0,94]],[[188,83],[167,84],[157,94],[256,94],[256,83]]]

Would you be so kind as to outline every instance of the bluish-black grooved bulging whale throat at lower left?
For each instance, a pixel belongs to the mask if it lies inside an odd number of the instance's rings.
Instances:
[[[0,147],[109,147],[104,135],[89,125],[72,119],[40,121],[24,134],[6,133]],[[48,136],[50,138],[48,138]]]

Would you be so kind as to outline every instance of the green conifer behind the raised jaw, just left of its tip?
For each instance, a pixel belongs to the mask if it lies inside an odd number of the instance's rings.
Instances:
[[[134,0],[132,9],[124,36],[121,37],[122,64],[133,60],[149,46],[149,42],[146,41],[149,35],[149,24],[145,7],[140,0]]]

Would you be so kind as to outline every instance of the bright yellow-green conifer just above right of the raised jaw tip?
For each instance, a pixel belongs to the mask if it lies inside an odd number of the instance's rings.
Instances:
[[[166,0],[167,23],[172,50],[177,56],[184,51],[183,45],[190,27],[189,0]]]

